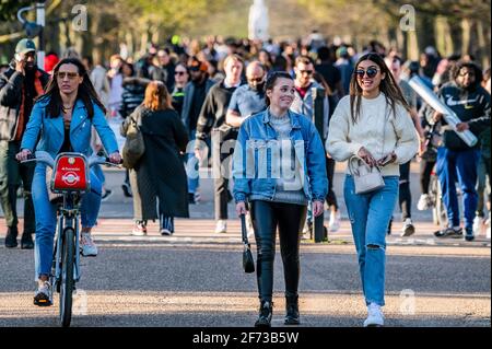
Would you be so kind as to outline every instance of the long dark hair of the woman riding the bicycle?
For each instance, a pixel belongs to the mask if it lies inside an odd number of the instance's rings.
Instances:
[[[78,58],[63,58],[52,69],[52,77],[46,88],[46,93],[36,98],[36,102],[49,98],[47,117],[56,118],[61,115],[61,95],[60,88],[58,86],[57,74],[62,65],[75,66],[79,70],[79,75],[83,78],[83,81],[77,91],[77,100],[81,100],[83,102],[84,107],[87,110],[89,118],[92,119],[94,116],[94,106],[92,103],[95,103],[103,110],[103,113],[106,114],[106,108],[97,96],[97,92],[94,90],[91,79],[89,79],[87,70],[84,65]]]

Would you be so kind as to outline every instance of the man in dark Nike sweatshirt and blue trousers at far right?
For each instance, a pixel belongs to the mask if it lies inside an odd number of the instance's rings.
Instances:
[[[490,125],[490,94],[480,85],[481,69],[473,62],[460,61],[452,71],[453,81],[444,84],[438,95],[461,120],[456,131],[470,130],[477,137]],[[435,112],[434,121],[443,121],[443,115]],[[444,132],[444,147],[437,151],[437,175],[441,182],[443,201],[447,210],[448,228],[436,232],[437,237],[460,237],[459,206],[456,182],[462,189],[465,240],[473,240],[473,219],[478,195],[477,167],[480,156],[479,143],[467,146],[453,129]]]

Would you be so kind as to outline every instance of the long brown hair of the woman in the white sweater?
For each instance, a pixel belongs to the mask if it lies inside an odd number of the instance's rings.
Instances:
[[[352,75],[352,79],[350,80],[350,114],[352,116],[352,123],[355,124],[358,121],[359,115],[361,113],[362,89],[358,83],[355,71],[363,60],[371,60],[375,62],[379,67],[380,73],[385,74],[385,79],[383,79],[379,83],[379,91],[385,94],[386,103],[391,106],[393,115],[396,114],[397,103],[410,112],[410,106],[405,100],[400,88],[395,81],[393,73],[389,71],[389,68],[386,66],[383,58],[377,54],[366,54],[359,58],[358,62],[355,63],[354,73]]]

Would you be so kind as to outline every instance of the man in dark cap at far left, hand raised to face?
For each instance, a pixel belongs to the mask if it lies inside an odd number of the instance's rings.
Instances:
[[[34,166],[15,160],[22,136],[31,116],[34,100],[44,93],[49,75],[36,66],[36,47],[31,39],[21,39],[15,58],[0,75],[0,200],[8,232],[5,246],[17,246],[16,191],[22,181],[24,191],[24,232],[21,248],[34,248],[34,207],[31,183]]]

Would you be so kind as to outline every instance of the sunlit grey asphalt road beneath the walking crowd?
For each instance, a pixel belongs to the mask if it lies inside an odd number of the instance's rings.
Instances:
[[[253,326],[257,314],[256,280],[241,267],[242,245],[236,219],[229,232],[213,232],[211,181],[202,182],[202,202],[191,206],[191,219],[177,220],[176,233],[160,236],[155,223],[149,236],[130,236],[131,199],[120,189],[124,173],[107,171],[114,194],[103,203],[94,236],[96,258],[82,259],[72,326]],[[337,173],[340,193],[343,175]],[[412,174],[418,198],[418,177]],[[330,243],[301,246],[301,326],[361,326],[365,306],[350,226],[340,198],[343,224]],[[415,203],[415,202],[414,202]],[[414,206],[413,203],[413,206]],[[230,205],[231,217],[234,207]],[[395,210],[398,221],[398,209]],[[387,326],[491,326],[490,240],[473,243],[437,240],[430,212],[414,209],[417,233],[399,237],[400,223],[388,236]],[[0,225],[0,326],[58,326],[58,304],[32,303],[34,255],[7,249]],[[283,326],[283,276],[280,253],[274,271],[272,325]],[[56,300],[58,296],[56,296]]]

